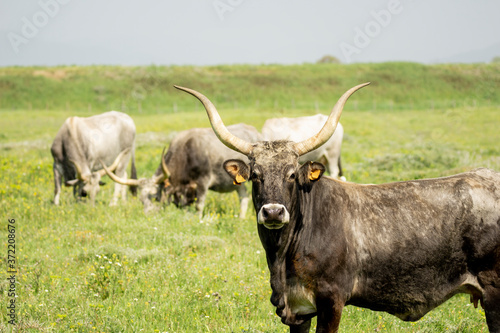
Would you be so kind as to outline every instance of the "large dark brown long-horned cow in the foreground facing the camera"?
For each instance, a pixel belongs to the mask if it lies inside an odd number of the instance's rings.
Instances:
[[[500,332],[500,173],[359,185],[322,177],[299,157],[335,131],[348,90],[325,126],[294,143],[250,143],[229,133],[202,94],[212,127],[250,163],[228,160],[235,183],[252,181],[258,232],[271,272],[271,302],[291,332],[337,332],[355,305],[416,321],[457,293],[481,301]]]

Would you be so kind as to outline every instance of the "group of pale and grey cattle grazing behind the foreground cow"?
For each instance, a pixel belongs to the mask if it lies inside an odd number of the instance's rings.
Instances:
[[[296,119],[275,118],[266,121],[262,134],[246,124],[228,126],[234,135],[250,142],[313,135],[321,128],[327,116],[316,115]],[[245,186],[237,186],[222,169],[227,159],[245,156],[222,144],[210,128],[193,128],[179,132],[171,141],[166,154],[162,154],[158,169],[151,178],[137,179],[134,160],[135,125],[130,116],[110,111],[81,118],[70,117],[56,135],[51,152],[54,158],[54,203],[59,204],[62,178],[66,186],[73,186],[74,196],[87,197],[92,204],[104,183],[101,177],[108,175],[115,182],[110,205],[116,205],[119,197],[126,198],[129,186],[149,212],[159,208],[155,202],[174,203],[178,207],[195,204],[202,215],[208,190],[225,193],[237,191],[240,199],[240,218],[244,218],[249,196]],[[342,177],[340,148],[343,129],[339,127],[332,139],[320,149],[309,154],[313,160],[323,160],[329,166],[330,175]],[[306,156],[307,157],[307,156]],[[127,166],[131,164],[130,178]]]

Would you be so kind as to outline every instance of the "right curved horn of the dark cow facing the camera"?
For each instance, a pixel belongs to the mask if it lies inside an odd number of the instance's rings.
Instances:
[[[347,102],[347,99],[354,94],[357,90],[369,85],[370,82],[363,83],[360,85],[357,85],[349,90],[347,90],[337,101],[335,106],[332,109],[332,112],[330,112],[330,116],[328,116],[328,119],[326,120],[325,125],[323,128],[314,136],[310,137],[307,140],[298,142],[294,145],[295,150],[299,154],[299,156],[304,155],[310,151],[313,151],[314,149],[320,147],[322,144],[324,144],[330,137],[333,135],[335,132],[335,129],[337,128],[337,124],[340,119],[340,115],[342,114],[342,109],[344,108],[345,103]]]

